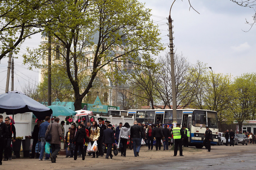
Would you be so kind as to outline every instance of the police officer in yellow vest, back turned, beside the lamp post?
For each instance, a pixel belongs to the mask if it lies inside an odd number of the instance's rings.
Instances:
[[[177,156],[178,146],[180,150],[180,156],[184,156],[182,154],[182,139],[183,139],[183,130],[180,128],[180,124],[176,124],[176,127],[172,129],[173,131],[173,139],[174,139],[174,157]]]

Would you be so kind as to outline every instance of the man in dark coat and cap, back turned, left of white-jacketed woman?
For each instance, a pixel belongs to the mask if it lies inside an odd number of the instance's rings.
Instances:
[[[110,156],[110,159],[112,159],[112,145],[115,142],[115,137],[114,137],[114,130],[111,129],[112,125],[108,124],[108,129],[103,131],[103,143],[107,145],[107,154],[106,154],[106,159]]]

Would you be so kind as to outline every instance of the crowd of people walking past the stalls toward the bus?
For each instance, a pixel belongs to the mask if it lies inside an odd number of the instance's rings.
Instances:
[[[0,153],[4,150],[4,161],[11,160],[11,141],[15,142],[16,132],[15,127],[11,124],[10,118],[5,118],[5,123],[3,122],[3,117],[0,115]],[[68,131],[64,132],[64,121],[61,121],[57,117],[51,123],[51,118],[47,116],[45,121],[36,120],[36,125],[33,130],[32,139],[33,146],[30,154],[30,158],[37,158],[39,161],[51,160],[52,163],[56,163],[57,155],[60,151],[60,142],[63,140],[65,142],[66,157],[71,157],[77,160],[78,157],[82,157],[85,160],[87,146],[93,145],[96,141],[97,151],[89,152],[87,156],[92,156],[92,158],[103,157],[106,154],[106,159],[112,159],[112,145],[118,144],[121,156],[126,157],[126,148],[130,141],[130,149],[133,149],[134,157],[139,156],[139,151],[141,145],[144,144],[148,147],[148,150],[153,150],[153,144],[155,141],[155,150],[161,150],[161,145],[163,145],[163,150],[168,150],[170,145],[175,144],[174,155],[176,156],[178,147],[180,147],[180,156],[182,155],[182,145],[188,147],[188,137],[189,130],[186,127],[169,127],[158,121],[155,124],[143,124],[134,121],[133,126],[129,123],[123,125],[122,122],[116,129],[111,125],[110,121],[105,121],[103,123],[103,118],[98,118],[97,121],[87,122],[86,126],[84,122],[81,121],[78,126],[76,123],[71,124]],[[13,136],[12,136],[13,135]],[[51,145],[51,154],[46,153],[45,145],[47,141],[45,136],[50,136],[48,143]],[[40,148],[37,149],[36,145],[40,143]],[[107,148],[107,149],[105,149]],[[45,151],[45,159],[44,157]],[[104,153],[105,152],[105,153]],[[0,154],[0,165],[2,165],[2,157]]]

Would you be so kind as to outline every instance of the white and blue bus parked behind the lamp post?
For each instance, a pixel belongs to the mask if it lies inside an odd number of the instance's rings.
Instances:
[[[135,114],[135,120],[144,124],[155,124],[156,122],[164,125],[176,126],[173,124],[172,109],[155,110],[128,110],[128,114]],[[211,145],[218,142],[217,112],[199,109],[177,109],[177,123],[189,129],[189,146],[196,148],[203,147],[205,126],[208,125],[212,131]]]

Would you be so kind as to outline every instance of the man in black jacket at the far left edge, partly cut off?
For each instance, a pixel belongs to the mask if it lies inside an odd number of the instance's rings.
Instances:
[[[3,160],[5,138],[9,134],[8,128],[3,121],[4,121],[4,117],[2,115],[0,115],[0,153],[1,153],[0,154],[0,165],[2,165],[2,160]]]

